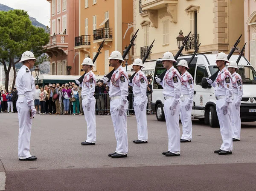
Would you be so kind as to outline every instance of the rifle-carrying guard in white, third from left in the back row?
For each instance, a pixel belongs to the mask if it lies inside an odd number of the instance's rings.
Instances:
[[[186,60],[180,60],[177,68],[181,72],[180,120],[183,134],[180,143],[187,143],[192,140],[191,111],[194,96],[194,80],[187,71],[189,67]]]

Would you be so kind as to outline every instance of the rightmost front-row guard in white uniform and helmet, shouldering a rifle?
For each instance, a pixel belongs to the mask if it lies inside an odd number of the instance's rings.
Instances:
[[[231,126],[232,104],[230,104],[232,102],[232,77],[226,68],[226,63],[229,63],[227,55],[223,52],[219,53],[216,57],[216,64],[220,69],[218,76],[214,82],[207,78],[208,83],[215,87],[216,111],[223,143],[221,148],[214,151],[214,153],[218,153],[219,155],[232,154],[233,149]]]

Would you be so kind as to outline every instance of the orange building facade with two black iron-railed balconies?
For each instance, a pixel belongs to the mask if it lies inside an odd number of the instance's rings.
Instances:
[[[113,69],[109,67],[108,57],[112,51],[122,53],[125,45],[129,45],[133,29],[128,29],[128,23],[130,26],[132,22],[133,0],[79,0],[79,36],[75,37],[79,71],[84,58],[90,56],[93,59],[105,40],[93,72],[96,75],[108,74]],[[133,50],[130,53],[128,63],[132,61]]]

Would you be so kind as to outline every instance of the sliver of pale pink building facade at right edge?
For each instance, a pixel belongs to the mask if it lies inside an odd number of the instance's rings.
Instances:
[[[256,68],[256,1],[244,0],[245,57]]]

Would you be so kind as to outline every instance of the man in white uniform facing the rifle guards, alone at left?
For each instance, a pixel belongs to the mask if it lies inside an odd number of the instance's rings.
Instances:
[[[29,152],[30,137],[32,128],[32,118],[36,114],[35,103],[35,78],[32,76],[31,69],[35,64],[35,56],[31,51],[25,51],[20,62],[20,68],[16,78],[18,90],[17,111],[19,119],[19,139],[18,157],[19,160],[37,160]]]

